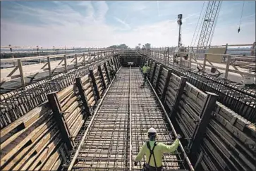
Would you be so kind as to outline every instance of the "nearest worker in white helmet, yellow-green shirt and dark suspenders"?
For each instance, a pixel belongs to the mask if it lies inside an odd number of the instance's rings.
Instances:
[[[171,146],[156,142],[157,130],[153,127],[148,129],[147,135],[150,141],[146,141],[143,144],[142,148],[140,148],[140,152],[135,158],[134,165],[137,166],[138,161],[140,161],[142,157],[146,154],[147,160],[146,163],[143,165],[142,171],[161,171],[161,158],[163,156],[163,153],[172,153],[176,151],[180,141],[179,139],[181,139],[181,135],[177,135],[176,140]]]

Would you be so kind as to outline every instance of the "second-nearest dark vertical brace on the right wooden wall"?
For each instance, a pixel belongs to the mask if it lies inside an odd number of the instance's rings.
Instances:
[[[187,81],[187,78],[181,76],[181,82],[178,85],[178,92],[176,94],[175,101],[173,103],[173,108],[171,109],[171,113],[170,113],[170,118],[171,119],[176,118],[178,105],[179,105],[179,103],[181,101],[181,96],[183,94],[186,81]]]

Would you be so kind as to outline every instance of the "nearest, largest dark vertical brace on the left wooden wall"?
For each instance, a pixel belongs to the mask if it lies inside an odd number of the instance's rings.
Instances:
[[[56,124],[58,125],[61,131],[63,141],[66,142],[66,146],[68,147],[68,150],[72,150],[74,146],[74,141],[73,139],[71,139],[71,132],[68,129],[68,124],[65,118],[63,117],[61,104],[59,103],[57,94],[56,93],[47,94],[47,98],[48,98],[51,110],[53,112]]]

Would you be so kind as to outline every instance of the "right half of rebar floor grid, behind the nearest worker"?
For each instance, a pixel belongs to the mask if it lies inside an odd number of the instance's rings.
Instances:
[[[142,73],[139,68],[132,68],[132,142],[133,142],[133,158],[137,156],[142,144],[148,140],[147,130],[150,127],[157,129],[157,141],[164,144],[173,143],[173,135],[167,125],[161,106],[155,98],[149,85],[141,88],[143,82]],[[164,170],[180,170],[184,169],[184,160],[181,153],[165,153],[163,157]],[[142,159],[137,167],[133,166],[133,170],[139,170],[146,158]]]

